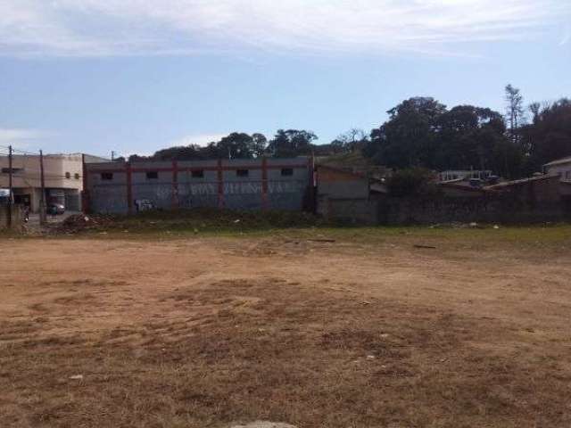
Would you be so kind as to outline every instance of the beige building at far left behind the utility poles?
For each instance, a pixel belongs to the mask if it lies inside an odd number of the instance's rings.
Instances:
[[[47,154],[44,156],[46,203],[61,203],[66,210],[81,210],[83,190],[83,158],[81,153]],[[85,155],[89,163],[106,161]],[[14,201],[37,212],[41,200],[41,174],[39,156],[14,155],[12,157],[12,187]],[[0,156],[0,189],[9,186],[9,161]]]

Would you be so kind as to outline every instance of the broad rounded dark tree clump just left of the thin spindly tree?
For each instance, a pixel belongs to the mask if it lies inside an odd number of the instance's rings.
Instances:
[[[501,113],[473,105],[450,111],[433,98],[411,98],[373,129],[364,154],[393,169],[492,169],[519,177],[524,156],[506,136]]]

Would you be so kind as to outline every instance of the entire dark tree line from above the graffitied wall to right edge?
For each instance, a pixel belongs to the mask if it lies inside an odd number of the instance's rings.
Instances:
[[[279,129],[270,140],[261,133],[234,132],[205,147],[170,147],[151,157],[133,155],[129,161],[362,152],[372,163],[390,169],[491,169],[499,176],[517,178],[541,171],[549,161],[571,156],[569,99],[525,107],[519,89],[508,85],[505,91],[505,114],[474,105],[448,109],[432,97],[413,97],[387,111],[389,118],[370,134],[351,129],[329,144],[316,144],[318,136],[308,130]]]

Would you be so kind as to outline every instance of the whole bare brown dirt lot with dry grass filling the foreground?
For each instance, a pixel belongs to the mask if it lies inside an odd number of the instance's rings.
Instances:
[[[0,240],[0,426],[568,428],[569,241],[469,233]]]

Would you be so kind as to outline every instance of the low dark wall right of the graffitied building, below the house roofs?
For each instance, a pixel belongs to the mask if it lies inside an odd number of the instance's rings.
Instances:
[[[451,222],[524,223],[570,219],[571,185],[559,177],[519,180],[500,190],[443,185],[426,198],[369,194],[368,179],[343,170],[318,168],[318,213],[350,224],[406,225]]]

